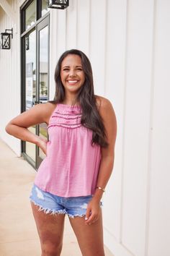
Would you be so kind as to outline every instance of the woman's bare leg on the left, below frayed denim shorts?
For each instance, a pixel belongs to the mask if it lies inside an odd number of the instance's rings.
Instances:
[[[59,256],[63,244],[65,214],[44,213],[31,202],[37,231],[40,236],[42,256]]]

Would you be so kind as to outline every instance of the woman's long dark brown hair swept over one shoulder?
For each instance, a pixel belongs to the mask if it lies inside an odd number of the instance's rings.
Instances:
[[[94,83],[91,63],[88,57],[77,49],[65,51],[55,68],[55,98],[53,103],[62,103],[65,99],[65,89],[61,82],[61,64],[68,54],[76,54],[81,57],[81,64],[85,74],[84,85],[81,86],[76,98],[82,109],[81,124],[92,130],[91,145],[94,143],[106,148],[108,143],[102,117],[97,110],[96,98],[94,96]]]

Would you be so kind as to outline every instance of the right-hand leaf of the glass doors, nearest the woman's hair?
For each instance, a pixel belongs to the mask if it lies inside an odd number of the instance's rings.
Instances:
[[[37,103],[48,101],[48,59],[49,59],[49,17],[37,25]],[[37,135],[48,139],[47,124],[37,126]],[[45,154],[37,148],[37,164],[40,165]]]

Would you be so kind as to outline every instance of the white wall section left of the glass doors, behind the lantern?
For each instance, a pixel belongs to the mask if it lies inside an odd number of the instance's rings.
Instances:
[[[2,50],[0,48],[0,137],[17,155],[20,155],[21,143],[7,135],[4,130],[7,122],[20,114],[21,109],[19,7],[17,0],[7,2],[12,7],[15,18],[12,20],[0,7],[0,33],[4,33],[5,29],[12,29],[12,27],[14,31],[11,49]]]

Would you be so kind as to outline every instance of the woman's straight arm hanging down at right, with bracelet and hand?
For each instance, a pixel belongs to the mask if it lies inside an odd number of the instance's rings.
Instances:
[[[112,107],[112,104],[106,98],[102,98],[101,100],[99,114],[102,116],[102,120],[104,123],[108,147],[102,148],[102,160],[99,168],[97,187],[105,189],[114,166],[115,141],[117,136],[117,120],[115,116],[115,111]],[[91,202],[89,202],[88,208],[86,210],[87,224],[94,223],[98,219],[99,203],[102,199],[102,194],[104,192],[102,191],[102,189],[97,188]]]

